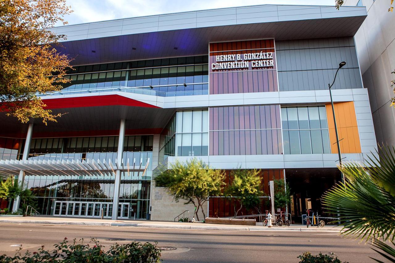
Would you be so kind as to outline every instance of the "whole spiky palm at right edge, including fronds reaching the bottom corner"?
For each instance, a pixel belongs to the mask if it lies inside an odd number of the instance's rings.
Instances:
[[[345,182],[325,192],[323,203],[329,212],[340,214],[342,235],[371,240],[376,252],[395,261],[395,148],[381,147],[378,156],[365,160],[367,167],[339,167]]]

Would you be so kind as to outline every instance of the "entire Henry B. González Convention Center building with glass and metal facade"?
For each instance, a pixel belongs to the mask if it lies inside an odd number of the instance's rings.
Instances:
[[[266,194],[285,179],[300,221],[341,179],[334,79],[343,162],[377,148],[354,43],[366,16],[262,5],[51,28],[66,35],[59,51],[74,69],[62,90],[38,96],[63,115],[45,126],[0,113],[0,172],[23,180],[41,215],[173,220],[194,209],[153,177],[197,158],[228,177],[261,169]],[[233,215],[221,198],[204,209]]]

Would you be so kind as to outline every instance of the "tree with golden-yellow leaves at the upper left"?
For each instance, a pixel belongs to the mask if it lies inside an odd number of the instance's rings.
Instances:
[[[36,96],[59,90],[71,58],[56,47],[64,35],[49,31],[70,13],[66,0],[0,0],[0,109],[23,123],[56,121]]]

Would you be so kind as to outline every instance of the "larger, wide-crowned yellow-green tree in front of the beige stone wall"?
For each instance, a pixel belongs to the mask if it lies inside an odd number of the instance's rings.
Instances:
[[[203,204],[207,197],[221,194],[224,178],[224,171],[211,169],[201,160],[194,158],[185,163],[177,161],[170,165],[170,169],[162,167],[155,182],[157,186],[166,187],[176,202],[185,200],[185,204],[194,204],[197,207],[196,218],[199,220],[199,210],[206,217]]]

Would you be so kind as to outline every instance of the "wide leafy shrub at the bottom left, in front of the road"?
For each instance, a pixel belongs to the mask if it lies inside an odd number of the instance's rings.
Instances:
[[[7,255],[0,256],[0,262],[19,263],[19,262],[51,262],[51,263],[85,263],[85,262],[112,262],[112,263],[160,263],[160,248],[155,244],[146,242],[132,242],[129,244],[113,244],[106,252],[103,246],[96,239],[91,239],[94,245],[77,243],[68,244],[65,238],[59,244],[55,244],[54,250],[45,250],[44,246],[38,249],[38,252],[27,251],[21,255],[21,249],[13,257]]]

